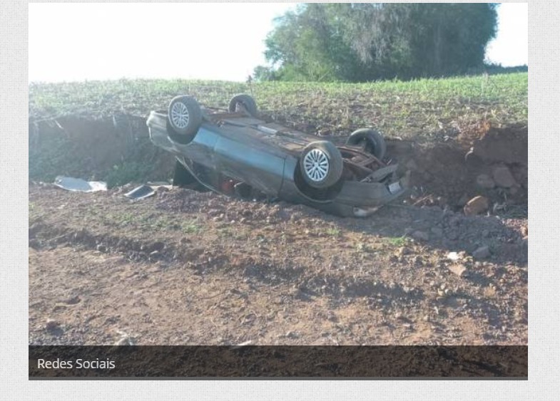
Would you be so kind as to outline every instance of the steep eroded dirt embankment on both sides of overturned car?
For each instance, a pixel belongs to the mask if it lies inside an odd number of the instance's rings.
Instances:
[[[56,175],[69,175],[114,186],[170,179],[173,171],[173,157],[151,144],[142,117],[63,117],[30,123],[29,135],[31,179],[49,182]],[[457,210],[483,195],[492,207],[526,209],[527,138],[526,126],[481,123],[464,127],[454,137],[423,140],[422,145],[387,138],[387,155],[399,162],[402,172],[412,171],[409,203],[446,204]]]

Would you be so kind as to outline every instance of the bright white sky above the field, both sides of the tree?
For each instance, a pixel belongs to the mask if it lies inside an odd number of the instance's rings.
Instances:
[[[29,4],[29,81],[243,81],[265,64],[273,19],[295,3]],[[502,4],[487,60],[527,63],[527,4]]]

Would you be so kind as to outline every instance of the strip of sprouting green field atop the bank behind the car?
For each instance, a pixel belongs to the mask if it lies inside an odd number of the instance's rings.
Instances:
[[[524,124],[527,92],[528,73],[358,84],[124,79],[31,83],[29,117],[144,116],[166,108],[178,94],[220,107],[235,93],[251,93],[260,110],[307,132],[347,135],[359,127],[376,127],[385,135],[429,138],[481,120]]]

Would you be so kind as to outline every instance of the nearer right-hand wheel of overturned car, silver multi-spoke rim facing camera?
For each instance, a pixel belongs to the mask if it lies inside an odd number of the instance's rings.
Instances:
[[[342,176],[342,155],[329,141],[311,142],[300,158],[300,170],[307,184],[314,188],[327,188]]]

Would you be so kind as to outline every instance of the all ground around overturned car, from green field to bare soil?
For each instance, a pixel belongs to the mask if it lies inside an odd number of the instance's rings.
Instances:
[[[31,83],[29,343],[526,345],[527,92],[527,73]],[[173,172],[151,110],[236,93],[335,143],[380,130],[409,193],[363,219],[191,189],[123,196]],[[56,175],[109,189],[66,192]]]

